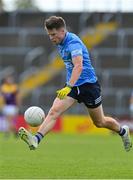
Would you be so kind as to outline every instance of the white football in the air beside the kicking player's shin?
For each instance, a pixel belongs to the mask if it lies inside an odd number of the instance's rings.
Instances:
[[[31,106],[24,113],[25,121],[30,126],[33,126],[33,127],[41,125],[44,118],[45,118],[45,113],[38,106]]]

